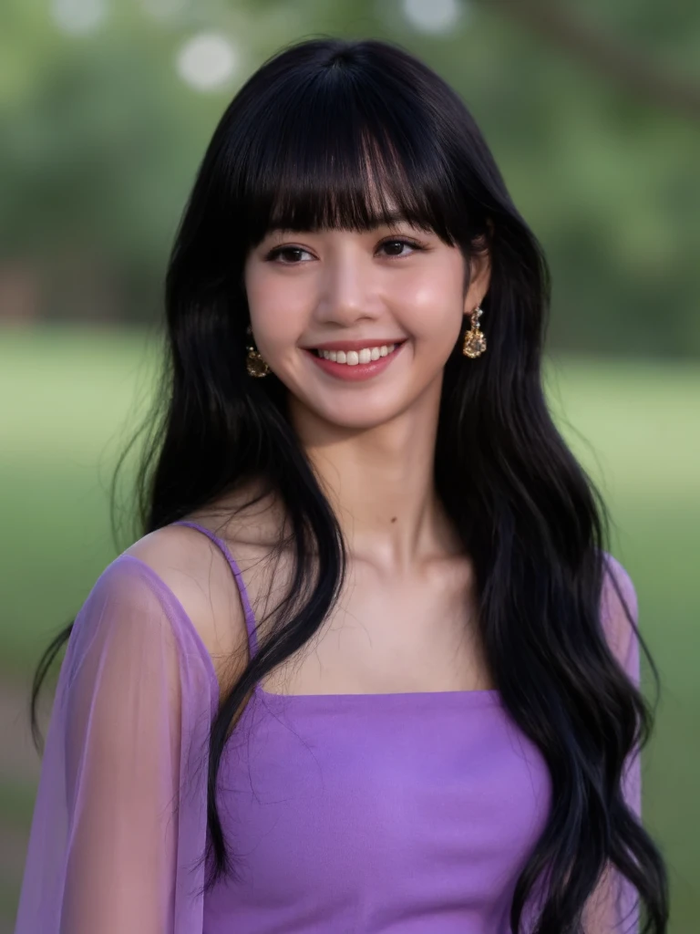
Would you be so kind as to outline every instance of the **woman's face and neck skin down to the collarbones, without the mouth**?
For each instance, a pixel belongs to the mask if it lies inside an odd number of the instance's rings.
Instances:
[[[442,373],[489,276],[488,256],[473,258],[465,294],[459,248],[405,221],[369,233],[274,231],[247,257],[259,352],[289,390],[295,428],[351,553],[387,573],[454,550],[433,475]],[[325,374],[301,349],[364,337],[406,344],[363,382]]]

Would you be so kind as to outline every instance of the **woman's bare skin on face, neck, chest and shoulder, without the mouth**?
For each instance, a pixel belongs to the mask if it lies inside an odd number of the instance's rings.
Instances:
[[[465,272],[459,248],[405,221],[366,233],[273,231],[246,257],[253,337],[289,391],[290,416],[348,554],[340,600],[314,640],[266,675],[266,690],[493,687],[478,639],[471,561],[441,509],[433,474],[443,367],[464,332],[465,312],[488,290],[488,255],[473,257],[467,293]],[[406,343],[383,373],[353,383],[324,373],[302,349],[355,338]],[[227,541],[264,638],[267,611],[287,592],[290,564],[267,560],[284,522],[279,503],[265,499],[227,518],[252,491],[222,497],[190,518]],[[174,590],[227,690],[245,667],[247,636],[223,556],[203,535],[175,526],[131,550]]]

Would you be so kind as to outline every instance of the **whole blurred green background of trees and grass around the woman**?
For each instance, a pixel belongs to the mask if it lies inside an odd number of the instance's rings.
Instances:
[[[685,0],[3,0],[0,934],[38,771],[30,672],[131,544],[112,539],[107,494],[157,363],[175,225],[236,88],[313,35],[388,38],[435,67],[547,252],[547,388],[607,496],[661,674],[643,810],[669,865],[670,930],[694,934],[700,6]],[[653,700],[645,659],[642,674]]]

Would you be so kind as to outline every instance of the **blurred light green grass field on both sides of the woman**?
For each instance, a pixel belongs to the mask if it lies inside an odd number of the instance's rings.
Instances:
[[[129,544],[111,540],[106,490],[147,393],[151,361],[137,332],[0,333],[0,676],[18,696],[39,650]],[[643,757],[643,810],[669,863],[670,930],[695,934],[700,368],[557,358],[546,377],[563,432],[607,496],[611,550],[637,586],[640,628],[662,677],[655,735]],[[644,659],[642,666],[652,696]],[[0,830],[11,824],[12,833],[25,831],[31,810],[27,788],[16,785],[0,770]],[[0,931],[19,880],[17,866],[6,863],[3,857]]]

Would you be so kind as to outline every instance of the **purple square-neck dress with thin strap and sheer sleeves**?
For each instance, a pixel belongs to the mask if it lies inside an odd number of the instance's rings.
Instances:
[[[241,572],[194,527],[231,565],[255,653]],[[608,560],[637,614],[629,576]],[[607,627],[612,592],[608,578]],[[637,639],[625,631],[638,684]],[[16,934],[511,934],[513,888],[551,785],[497,690],[281,696],[258,686],[218,780],[238,878],[203,893],[217,703],[212,660],[182,604],[146,563],[120,555],[63,661]],[[641,815],[637,751],[624,790]],[[613,882],[616,907],[592,930],[636,932],[636,893]]]

